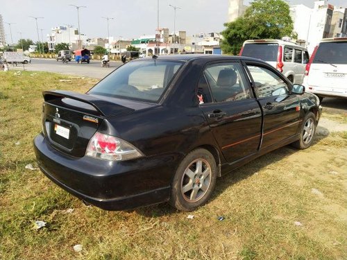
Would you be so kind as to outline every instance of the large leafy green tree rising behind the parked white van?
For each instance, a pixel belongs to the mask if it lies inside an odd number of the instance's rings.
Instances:
[[[236,55],[245,40],[281,39],[295,37],[289,5],[282,0],[255,0],[243,17],[224,24],[226,29],[221,47],[225,53]]]

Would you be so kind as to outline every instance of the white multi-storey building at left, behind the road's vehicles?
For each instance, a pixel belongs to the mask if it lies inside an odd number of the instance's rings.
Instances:
[[[47,35],[47,42],[49,51],[56,49],[56,44],[66,43],[69,44],[70,49],[78,49],[78,29],[72,26],[58,26],[52,28],[51,35]],[[87,35],[81,33],[81,46],[84,47],[87,44]]]

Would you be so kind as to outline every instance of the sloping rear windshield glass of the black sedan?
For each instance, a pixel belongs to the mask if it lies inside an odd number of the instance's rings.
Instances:
[[[158,102],[183,62],[139,60],[119,67],[89,94]]]

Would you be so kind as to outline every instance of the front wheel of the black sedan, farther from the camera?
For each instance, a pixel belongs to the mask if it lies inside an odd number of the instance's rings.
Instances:
[[[300,129],[300,137],[293,146],[298,149],[306,149],[312,145],[314,133],[316,132],[316,116],[312,112],[308,112],[303,120]]]

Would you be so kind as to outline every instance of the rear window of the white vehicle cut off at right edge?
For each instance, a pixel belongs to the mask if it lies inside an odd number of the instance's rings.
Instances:
[[[321,42],[313,63],[347,64],[347,42]]]

